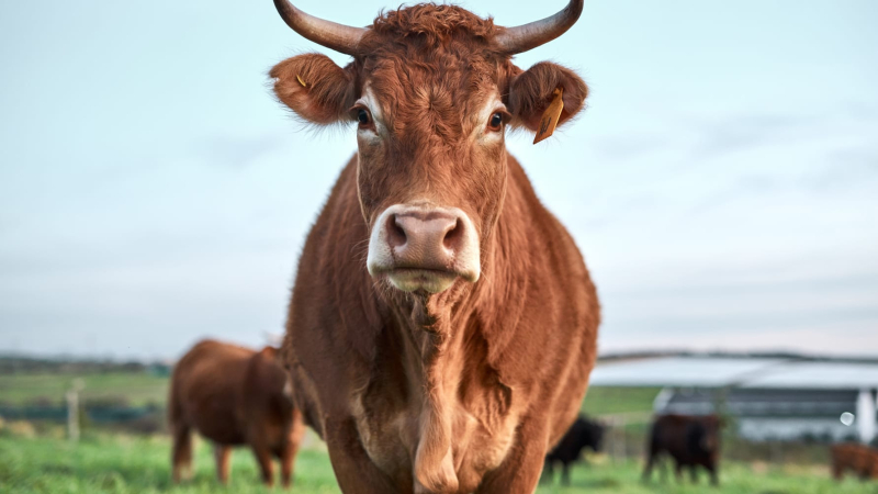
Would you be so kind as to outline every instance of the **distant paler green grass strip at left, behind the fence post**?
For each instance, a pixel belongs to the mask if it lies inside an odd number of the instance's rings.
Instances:
[[[76,378],[86,384],[82,398],[125,397],[131,405],[156,403],[168,400],[168,378],[146,372],[110,372],[104,374],[12,374],[0,375],[0,400],[21,405],[36,398],[54,403],[64,401],[64,393]]]

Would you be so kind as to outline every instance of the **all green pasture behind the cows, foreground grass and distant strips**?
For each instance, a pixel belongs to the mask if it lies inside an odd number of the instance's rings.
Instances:
[[[168,379],[144,372],[104,372],[78,374],[0,375],[0,401],[8,404],[60,402],[74,378],[86,382],[83,403],[92,400],[125,402],[131,405],[153,403],[164,407]],[[654,388],[594,388],[583,409],[592,415],[648,413],[658,392]],[[161,414],[164,416],[164,413]],[[59,424],[35,424],[16,429],[7,423],[0,427],[0,493],[179,493],[235,492],[241,494],[272,492],[260,485],[256,462],[249,451],[233,454],[232,481],[227,489],[217,489],[210,445],[199,440],[194,478],[175,486],[170,483],[170,439],[167,435],[111,434],[86,424],[79,444],[64,439]],[[628,448],[638,454],[644,426],[633,426]],[[729,445],[731,446],[731,445]],[[730,448],[731,449],[731,448]],[[822,453],[824,447],[820,447]],[[731,451],[730,451],[731,452]],[[821,454],[822,457],[822,454]],[[738,454],[735,458],[746,458]],[[543,484],[540,494],[573,493],[700,493],[717,494],[878,494],[878,483],[845,480],[837,484],[830,479],[823,458],[801,464],[786,465],[765,461],[723,461],[722,486],[708,490],[707,478],[693,486],[680,486],[673,479],[662,483],[657,473],[650,484],[640,481],[642,463],[597,457],[589,465],[578,464],[572,471],[571,487]],[[292,492],[337,493],[335,475],[323,444],[313,435],[295,462],[295,485]],[[556,470],[560,478],[560,469]],[[274,492],[278,492],[277,490]]]

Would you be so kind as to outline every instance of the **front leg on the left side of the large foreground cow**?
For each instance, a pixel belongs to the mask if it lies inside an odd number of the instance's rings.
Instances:
[[[324,426],[329,461],[338,486],[345,494],[392,494],[401,492],[391,479],[372,463],[350,417]]]

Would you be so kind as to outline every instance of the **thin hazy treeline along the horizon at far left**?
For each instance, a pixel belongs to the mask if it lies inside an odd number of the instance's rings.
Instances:
[[[86,374],[110,372],[153,372],[168,374],[170,366],[165,362],[117,361],[111,359],[41,358],[18,355],[0,355],[0,375],[45,373]]]

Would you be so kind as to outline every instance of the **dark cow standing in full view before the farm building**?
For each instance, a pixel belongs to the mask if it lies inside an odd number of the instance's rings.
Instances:
[[[710,483],[719,485],[720,426],[721,420],[716,415],[668,414],[656,417],[648,439],[643,480],[650,479],[655,461],[667,454],[674,459],[678,481],[683,480],[683,468],[688,467],[693,483],[697,482],[697,468],[703,467],[710,473]]]

